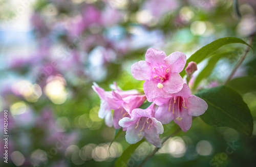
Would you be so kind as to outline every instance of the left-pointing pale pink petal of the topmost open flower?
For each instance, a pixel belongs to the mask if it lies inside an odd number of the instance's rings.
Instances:
[[[132,65],[131,72],[133,77],[137,80],[150,80],[152,69],[150,63],[139,61]]]

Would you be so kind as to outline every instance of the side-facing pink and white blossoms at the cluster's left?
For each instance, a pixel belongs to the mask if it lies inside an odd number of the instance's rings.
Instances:
[[[138,108],[146,100],[145,95],[141,95],[136,90],[122,91],[114,82],[115,91],[104,91],[95,82],[93,90],[99,95],[101,103],[98,116],[105,119],[105,124],[116,129],[121,128],[118,124],[123,117],[130,117],[134,108]],[[114,114],[112,116],[112,109]]]

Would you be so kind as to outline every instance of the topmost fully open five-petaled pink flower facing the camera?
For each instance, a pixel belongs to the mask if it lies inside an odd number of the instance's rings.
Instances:
[[[148,101],[159,97],[168,98],[169,93],[177,93],[183,87],[180,72],[186,64],[186,55],[176,51],[168,55],[164,51],[149,48],[145,61],[132,65],[131,71],[135,79],[146,80],[143,84]]]

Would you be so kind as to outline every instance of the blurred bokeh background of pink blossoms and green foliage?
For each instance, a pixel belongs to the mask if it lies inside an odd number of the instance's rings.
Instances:
[[[129,144],[123,133],[108,150],[116,130],[98,118],[93,81],[106,91],[113,81],[123,90],[141,89],[143,81],[130,70],[149,47],[188,58],[218,38],[248,41],[256,29],[256,1],[239,1],[239,11],[231,0],[0,0],[1,136],[4,109],[9,121],[9,163],[0,157],[0,165],[114,166]],[[232,54],[218,61],[194,93],[223,84],[243,51],[241,44],[219,49]],[[206,64],[198,65],[194,79]],[[241,76],[256,76],[255,51],[234,77]],[[242,96],[254,119],[252,136],[197,118],[146,166],[254,166],[256,92]],[[129,166],[154,149],[147,142],[140,147],[143,154]]]

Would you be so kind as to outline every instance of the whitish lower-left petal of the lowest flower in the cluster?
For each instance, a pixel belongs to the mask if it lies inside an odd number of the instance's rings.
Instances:
[[[135,144],[139,142],[143,136],[144,136],[144,131],[140,132],[140,128],[135,128],[136,124],[133,124],[132,126],[127,128],[125,139],[128,143],[130,144]],[[141,135],[139,136],[138,134]]]

